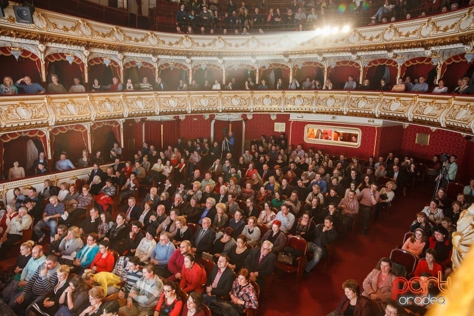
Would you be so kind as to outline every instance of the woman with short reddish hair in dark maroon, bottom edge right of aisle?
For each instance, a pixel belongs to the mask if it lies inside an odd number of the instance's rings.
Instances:
[[[333,312],[336,315],[354,315],[354,316],[368,316],[373,314],[370,306],[370,301],[360,295],[359,284],[356,280],[348,279],[342,283],[344,294]],[[380,311],[379,311],[380,312]],[[332,315],[332,313],[331,313]]]

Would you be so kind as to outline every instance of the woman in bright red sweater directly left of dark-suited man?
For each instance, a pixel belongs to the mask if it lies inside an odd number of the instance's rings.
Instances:
[[[193,291],[202,293],[206,280],[206,271],[196,262],[195,255],[191,253],[186,254],[184,256],[179,287],[186,293]]]

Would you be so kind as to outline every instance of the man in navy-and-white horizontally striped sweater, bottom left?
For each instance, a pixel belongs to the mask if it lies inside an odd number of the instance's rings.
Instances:
[[[28,280],[23,291],[8,303],[16,315],[28,315],[31,305],[44,300],[46,294],[58,282],[58,269],[58,257],[52,254],[48,255],[33,277]]]

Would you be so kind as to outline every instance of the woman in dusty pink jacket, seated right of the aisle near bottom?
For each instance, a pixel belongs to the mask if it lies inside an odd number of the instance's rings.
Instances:
[[[385,308],[392,297],[392,283],[395,278],[392,260],[385,257],[380,259],[375,269],[364,279],[362,295],[376,301]]]

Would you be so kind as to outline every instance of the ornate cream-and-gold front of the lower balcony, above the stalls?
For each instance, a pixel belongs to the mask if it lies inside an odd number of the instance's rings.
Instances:
[[[8,96],[0,98],[0,133],[119,118],[220,113],[344,115],[474,134],[474,97],[336,90]]]

